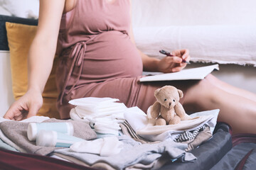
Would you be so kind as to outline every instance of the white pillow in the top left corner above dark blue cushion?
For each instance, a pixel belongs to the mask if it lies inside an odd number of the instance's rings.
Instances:
[[[0,7],[21,18],[38,18],[39,0],[0,0]]]

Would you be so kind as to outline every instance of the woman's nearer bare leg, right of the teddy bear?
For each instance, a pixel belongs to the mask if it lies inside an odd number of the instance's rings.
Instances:
[[[231,125],[233,133],[256,133],[256,102],[215,86],[208,77],[186,91],[183,106],[193,112],[219,108],[218,121]]]

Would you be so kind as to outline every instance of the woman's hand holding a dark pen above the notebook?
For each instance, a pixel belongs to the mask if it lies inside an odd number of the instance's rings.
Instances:
[[[182,62],[182,60],[186,60],[187,62],[190,60],[189,52],[186,49],[175,50],[171,52],[171,55],[174,55],[174,57],[166,56],[160,60],[158,64],[159,72],[179,72],[186,67],[186,62]]]

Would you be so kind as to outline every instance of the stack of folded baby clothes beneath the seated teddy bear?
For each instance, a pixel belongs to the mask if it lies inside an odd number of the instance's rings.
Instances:
[[[139,108],[127,108],[121,128],[124,135],[139,142],[182,142],[188,144],[186,151],[189,151],[212,137],[218,113],[219,109],[203,111],[191,114],[190,119],[176,125],[154,125],[155,120],[147,118]]]

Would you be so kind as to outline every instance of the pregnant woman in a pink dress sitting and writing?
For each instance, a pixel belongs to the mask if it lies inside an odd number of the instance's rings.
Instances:
[[[57,50],[56,50],[57,49]],[[143,111],[154,101],[154,91],[164,85],[184,93],[186,111],[220,108],[218,120],[234,132],[256,132],[256,95],[208,75],[201,81],[140,83],[142,71],[178,72],[190,60],[188,50],[162,60],[140,52],[131,26],[129,0],[42,0],[38,30],[28,54],[28,91],[12,104],[4,118],[22,120],[41,108],[42,92],[53,65],[57,69],[60,118],[69,118],[68,101],[82,97],[111,97]],[[42,72],[43,71],[43,72]]]

